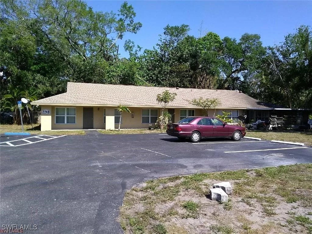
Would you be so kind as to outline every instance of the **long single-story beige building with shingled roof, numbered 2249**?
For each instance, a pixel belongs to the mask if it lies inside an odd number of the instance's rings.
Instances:
[[[230,119],[252,111],[257,118],[266,118],[269,110],[277,108],[263,103],[238,90],[207,90],[192,88],[167,88],[134,85],[109,85],[67,83],[67,92],[31,102],[41,106],[41,131],[53,129],[115,129],[118,128],[119,104],[127,106],[131,113],[123,113],[121,128],[148,128],[161,115],[161,105],[156,96],[163,91],[177,93],[175,100],[165,111],[172,115],[173,122],[187,116],[201,116],[202,108],[189,104],[194,98],[218,98],[222,110],[230,112]],[[209,116],[215,110],[208,111]]]

